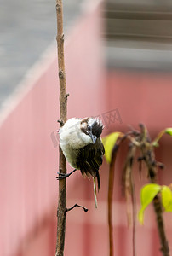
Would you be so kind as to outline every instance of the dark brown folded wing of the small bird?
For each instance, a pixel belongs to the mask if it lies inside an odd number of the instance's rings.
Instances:
[[[77,157],[77,166],[81,170],[83,177],[97,177],[98,189],[100,189],[99,168],[102,164],[105,149],[98,138],[95,144],[91,143],[84,148],[80,148]]]

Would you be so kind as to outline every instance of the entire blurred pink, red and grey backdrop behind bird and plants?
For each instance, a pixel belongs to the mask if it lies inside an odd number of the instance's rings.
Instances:
[[[145,123],[151,137],[172,127],[172,3],[169,0],[71,0],[64,2],[68,118],[99,116],[103,136]],[[55,2],[0,0],[0,256],[54,255],[58,200],[59,80]],[[84,104],[83,104],[84,102]],[[121,195],[125,148],[114,186],[114,243],[132,254]],[[172,140],[156,150],[164,163],[159,183],[172,180]],[[68,172],[72,171],[67,166]],[[98,209],[93,184],[76,172],[67,180],[65,255],[108,255],[108,165],[100,168]],[[137,210],[140,179],[135,164]],[[170,213],[164,213],[172,244]],[[160,256],[152,207],[137,223],[136,252]],[[144,241],[144,242],[143,242]]]

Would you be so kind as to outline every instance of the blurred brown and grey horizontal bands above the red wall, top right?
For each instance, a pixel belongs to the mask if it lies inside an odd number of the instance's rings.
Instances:
[[[171,71],[170,1],[106,1],[108,67]]]

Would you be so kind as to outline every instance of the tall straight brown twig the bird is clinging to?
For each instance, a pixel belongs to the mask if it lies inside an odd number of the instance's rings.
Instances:
[[[57,14],[57,50],[60,79],[60,126],[66,122],[67,95],[66,95],[66,73],[64,58],[64,34],[63,34],[63,4],[62,0],[56,0]],[[59,171],[66,173],[66,158],[61,149]],[[63,256],[66,230],[66,179],[59,181],[59,201],[57,209],[57,241],[55,256]]]

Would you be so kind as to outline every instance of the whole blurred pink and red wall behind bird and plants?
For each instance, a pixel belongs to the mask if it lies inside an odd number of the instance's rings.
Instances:
[[[119,113],[117,119],[106,123],[104,134],[116,129],[127,130],[128,124],[145,122],[154,135],[171,126],[170,81],[165,74],[108,73],[103,69],[100,44],[100,9],[83,15],[66,43],[66,84],[70,93],[68,117]],[[0,126],[0,255],[54,255],[58,182],[59,119],[56,51],[49,67],[34,79],[31,89],[18,102]],[[117,112],[118,109],[118,112]],[[107,119],[106,119],[107,121]],[[108,126],[109,125],[109,126]],[[52,142],[52,139],[54,142]],[[167,141],[167,148],[164,144]],[[160,160],[170,166],[171,141],[165,138]],[[167,154],[165,153],[167,149]],[[118,170],[123,156],[119,156]],[[68,166],[68,172],[71,167]],[[170,168],[168,168],[170,170]],[[171,172],[161,174],[162,183],[171,180]],[[79,172],[67,180],[66,206],[76,202],[89,212],[74,209],[67,214],[65,255],[95,256],[108,253],[106,217],[107,164],[100,170],[101,191],[99,207],[95,210],[93,184]],[[138,174],[135,175],[135,178]],[[127,228],[124,201],[120,191],[120,172],[115,178],[114,241],[116,255],[132,255],[131,228]],[[143,178],[138,188],[145,183]],[[138,195],[137,195],[138,196]],[[169,214],[167,230],[171,242]],[[167,216],[168,215],[168,216]],[[140,256],[160,256],[158,236],[152,208],[146,212],[146,224],[137,230],[137,253]]]

